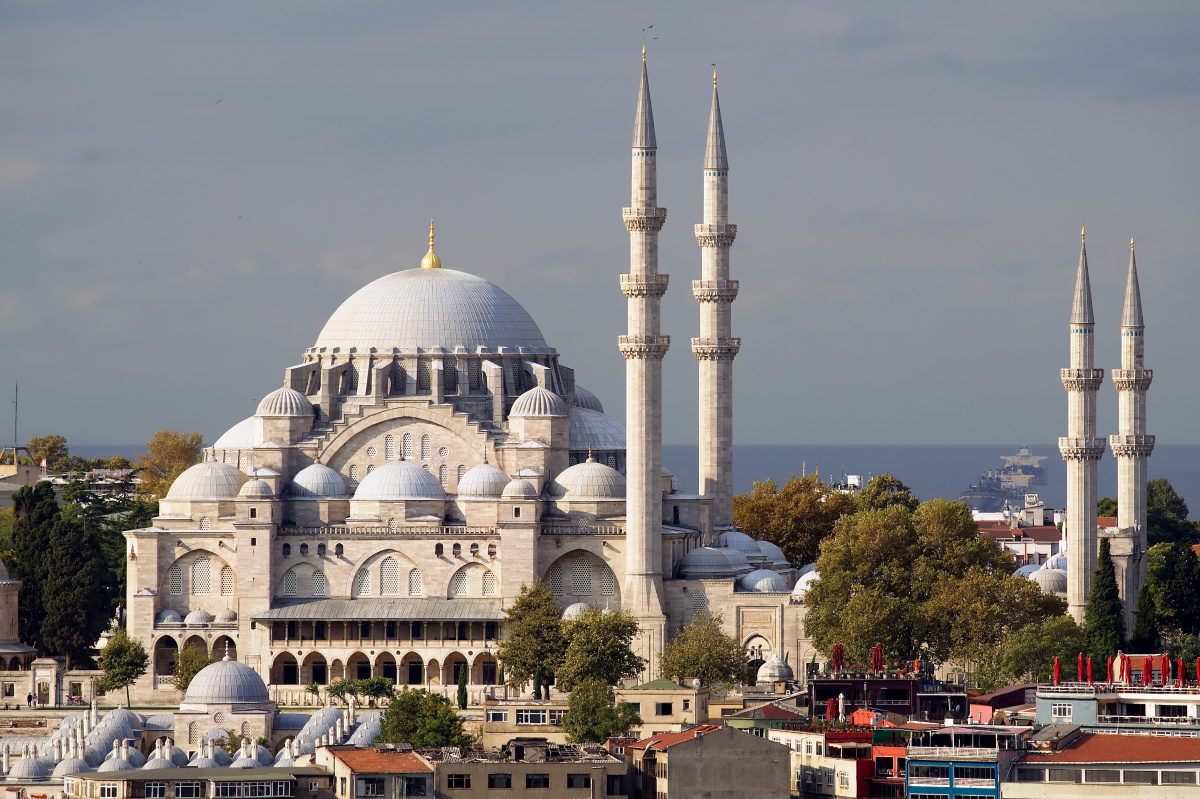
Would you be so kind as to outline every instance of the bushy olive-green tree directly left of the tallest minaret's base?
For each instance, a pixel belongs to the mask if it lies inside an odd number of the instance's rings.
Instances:
[[[606,613],[590,608],[569,621],[564,630],[566,653],[554,674],[558,689],[572,691],[587,679],[616,685],[641,673],[646,661],[630,647],[637,630],[637,619],[629,611]]]

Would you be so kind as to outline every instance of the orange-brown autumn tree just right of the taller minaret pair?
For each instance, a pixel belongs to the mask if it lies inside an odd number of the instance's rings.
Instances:
[[[842,513],[850,512],[850,494],[821,482],[817,475],[790,476],[782,488],[774,480],[733,498],[733,523],[749,535],[770,541],[802,566],[817,559],[821,541]]]

